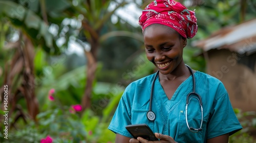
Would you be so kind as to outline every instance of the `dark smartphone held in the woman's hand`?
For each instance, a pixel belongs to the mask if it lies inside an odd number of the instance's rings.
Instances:
[[[146,140],[157,141],[159,140],[153,131],[146,124],[135,124],[135,125],[127,125],[126,130],[130,132],[130,134],[137,139],[137,137],[142,137]]]

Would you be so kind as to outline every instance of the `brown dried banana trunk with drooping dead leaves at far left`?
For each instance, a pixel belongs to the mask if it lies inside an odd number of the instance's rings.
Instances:
[[[8,86],[8,110],[9,116],[15,112],[15,122],[25,114],[22,108],[19,108],[18,100],[20,97],[25,98],[29,116],[36,121],[36,115],[39,113],[38,101],[35,96],[34,84],[34,47],[31,40],[20,33],[20,40],[15,43],[8,43],[9,48],[14,48],[15,54],[10,62],[5,66],[4,85]],[[22,39],[23,38],[23,39]],[[21,44],[24,43],[24,44]],[[21,82],[21,84],[19,84]],[[3,95],[4,88],[0,89]],[[3,96],[2,96],[3,97]],[[2,109],[3,109],[2,101]],[[0,117],[1,118],[1,117]],[[26,121],[25,121],[26,122]]]

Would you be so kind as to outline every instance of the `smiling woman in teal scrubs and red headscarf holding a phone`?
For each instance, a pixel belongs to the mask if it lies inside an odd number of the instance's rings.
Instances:
[[[139,24],[146,57],[158,72],[126,87],[109,126],[116,142],[148,142],[125,129],[136,124],[150,127],[156,142],[228,142],[242,126],[224,85],[183,61],[187,38],[197,33],[195,12],[156,0],[142,11]]]

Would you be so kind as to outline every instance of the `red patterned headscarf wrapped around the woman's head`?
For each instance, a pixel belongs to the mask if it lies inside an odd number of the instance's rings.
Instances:
[[[142,11],[139,18],[142,31],[154,23],[173,28],[185,38],[192,38],[197,33],[195,12],[173,0],[156,0]]]

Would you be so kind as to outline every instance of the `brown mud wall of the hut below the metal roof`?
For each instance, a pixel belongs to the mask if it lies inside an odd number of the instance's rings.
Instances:
[[[256,64],[252,62],[256,53],[247,57],[228,50],[211,50],[206,54],[206,73],[223,82],[232,106],[242,111],[256,111]]]

